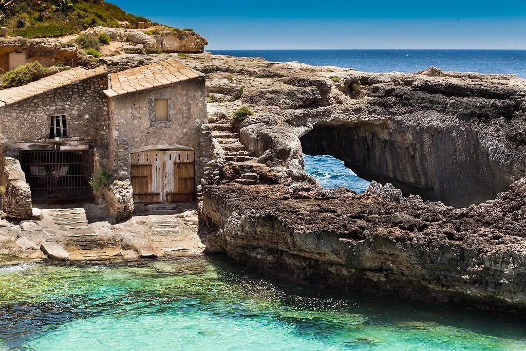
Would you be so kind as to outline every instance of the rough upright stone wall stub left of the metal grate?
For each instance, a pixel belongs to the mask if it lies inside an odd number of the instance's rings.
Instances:
[[[2,196],[2,209],[9,218],[31,219],[33,205],[31,189],[26,183],[26,176],[17,159],[4,159],[4,174],[2,184],[5,193]]]

